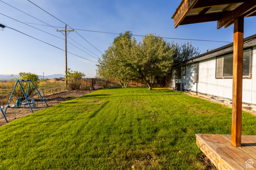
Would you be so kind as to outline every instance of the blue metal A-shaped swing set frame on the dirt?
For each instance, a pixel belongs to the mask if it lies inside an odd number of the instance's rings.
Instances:
[[[23,95],[24,95],[25,98],[26,98],[26,100],[25,100],[25,101],[27,102],[26,104],[28,104],[28,106],[29,106],[31,112],[34,113],[33,110],[32,110],[32,107],[30,106],[30,104],[32,104],[32,103],[28,101],[28,90],[29,90],[30,83],[31,83],[31,84],[35,87],[35,89],[36,89],[36,91],[38,92],[38,94],[40,95],[40,98],[45,102],[46,106],[48,106],[48,104],[46,103],[46,101],[44,100],[44,98],[41,96],[40,92],[37,90],[36,86],[34,85],[34,83],[33,83],[31,80],[10,80],[10,81],[16,81],[16,84],[15,84],[15,86],[14,86],[14,88],[13,88],[13,92],[12,92],[10,98],[9,98],[9,101],[8,101],[7,105],[9,105],[9,103],[10,103],[10,101],[11,101],[11,99],[12,99],[14,90],[15,90],[16,86],[19,84],[20,89],[22,90],[22,93],[23,93]],[[25,91],[24,91],[24,89],[22,88],[22,85],[20,84],[20,82],[29,82],[29,83],[28,83],[27,94],[25,94]],[[21,104],[21,103],[20,103],[20,104]],[[25,104],[25,103],[23,103],[23,104]],[[33,105],[33,104],[32,104],[32,105]],[[8,108],[8,107],[6,107],[6,108],[5,108],[5,111],[3,112],[2,108],[0,107],[0,110],[1,110],[1,112],[2,112],[2,114],[3,114],[3,116],[4,116],[4,118],[5,118],[6,123],[8,123],[8,121],[7,121],[6,117],[5,117],[5,112],[6,112],[7,108]]]

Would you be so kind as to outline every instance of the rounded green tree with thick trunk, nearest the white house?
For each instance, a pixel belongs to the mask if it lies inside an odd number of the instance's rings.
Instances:
[[[164,76],[172,68],[173,47],[159,35],[146,34],[134,48],[135,68],[148,89],[152,90],[155,77]]]

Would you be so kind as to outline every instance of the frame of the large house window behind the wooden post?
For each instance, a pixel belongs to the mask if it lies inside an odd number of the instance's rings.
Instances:
[[[252,79],[252,54],[253,54],[253,47],[248,47],[248,48],[244,48],[243,51],[250,49],[250,68],[249,68],[249,76],[243,76],[243,79]],[[216,56],[216,63],[215,63],[215,79],[233,79],[232,77],[223,77],[223,71],[222,71],[222,77],[217,77],[217,58],[219,57],[224,57],[227,55],[233,54],[233,51],[230,53],[227,53],[225,55],[219,55]],[[223,64],[223,60],[222,60],[222,64]],[[222,70],[223,70],[223,65],[222,65]]]

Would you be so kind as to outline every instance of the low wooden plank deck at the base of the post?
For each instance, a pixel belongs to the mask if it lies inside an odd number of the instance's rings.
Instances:
[[[231,135],[196,134],[196,143],[218,169],[256,169],[256,136],[242,135],[241,147],[231,145]]]

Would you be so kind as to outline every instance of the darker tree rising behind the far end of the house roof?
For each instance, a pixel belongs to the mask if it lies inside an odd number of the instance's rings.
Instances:
[[[184,43],[183,45],[181,44],[180,47],[178,43],[174,44],[174,42],[172,41],[172,47],[174,48],[174,65],[200,54],[200,51],[198,52],[199,48],[195,48],[194,46],[192,46],[191,42],[190,44],[189,42]]]

